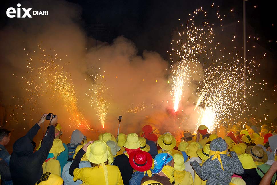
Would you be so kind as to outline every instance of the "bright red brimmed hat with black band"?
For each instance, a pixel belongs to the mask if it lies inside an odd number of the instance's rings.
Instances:
[[[129,162],[135,170],[139,172],[145,172],[149,170],[153,165],[153,159],[151,154],[145,151],[134,151],[129,155]]]

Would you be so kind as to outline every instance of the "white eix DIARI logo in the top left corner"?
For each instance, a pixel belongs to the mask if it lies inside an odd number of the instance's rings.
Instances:
[[[6,14],[9,18],[14,18],[14,17],[17,17],[17,18],[25,18],[25,17],[29,17],[29,18],[32,18],[32,15],[48,15],[48,10],[32,10],[32,8],[20,8],[21,7],[21,4],[18,3],[17,4],[17,9],[13,8],[13,7],[10,7],[7,9],[6,11]],[[24,13],[21,17],[21,9],[23,10],[22,13]]]

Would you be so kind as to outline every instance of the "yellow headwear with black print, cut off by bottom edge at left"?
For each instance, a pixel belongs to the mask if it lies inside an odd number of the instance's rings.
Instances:
[[[35,185],[61,185],[63,184],[63,179],[53,173],[45,172],[39,181]]]

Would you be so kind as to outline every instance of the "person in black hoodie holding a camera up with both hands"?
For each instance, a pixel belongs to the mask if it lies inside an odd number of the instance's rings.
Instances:
[[[42,164],[46,160],[49,151],[53,145],[55,124],[58,117],[51,114],[50,126],[47,129],[41,147],[33,153],[33,145],[31,141],[37,134],[40,126],[45,122],[46,115],[44,114],[38,123],[36,123],[28,133],[17,139],[13,144],[13,153],[10,159],[10,171],[13,185],[30,185],[35,184],[42,176]]]

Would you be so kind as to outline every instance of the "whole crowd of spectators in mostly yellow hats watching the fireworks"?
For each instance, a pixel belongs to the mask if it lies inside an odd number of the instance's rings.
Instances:
[[[33,138],[45,121],[46,114],[15,141],[11,154],[5,148],[11,131],[0,129],[0,185],[277,184],[277,130],[254,118],[216,133],[200,125],[197,134],[184,131],[181,141],[145,125],[141,135],[106,132],[95,141],[74,130],[65,144],[51,115],[36,147]]]

